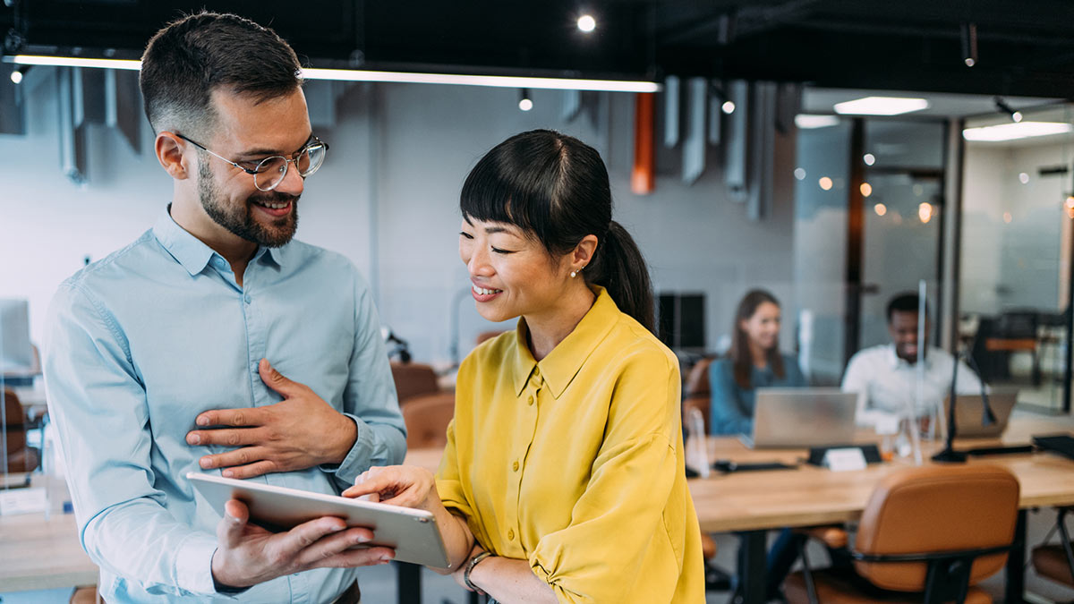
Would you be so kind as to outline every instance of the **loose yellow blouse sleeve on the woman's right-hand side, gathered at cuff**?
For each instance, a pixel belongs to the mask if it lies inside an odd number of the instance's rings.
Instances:
[[[639,353],[619,373],[604,444],[570,523],[540,538],[529,555],[534,573],[560,602],[629,602],[633,580],[657,581],[670,601],[679,565],[651,564],[677,463],[679,371],[662,351]],[[681,556],[681,551],[679,552]],[[681,562],[681,561],[680,561]],[[666,588],[666,589],[665,589]]]

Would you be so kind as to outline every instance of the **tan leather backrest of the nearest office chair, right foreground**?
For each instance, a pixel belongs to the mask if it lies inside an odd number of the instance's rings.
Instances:
[[[928,553],[1011,545],[1018,516],[1018,479],[983,464],[926,465],[881,480],[866,504],[855,549],[866,555]],[[970,584],[1003,567],[1006,553],[974,560]],[[925,589],[925,562],[861,562],[877,587]]]

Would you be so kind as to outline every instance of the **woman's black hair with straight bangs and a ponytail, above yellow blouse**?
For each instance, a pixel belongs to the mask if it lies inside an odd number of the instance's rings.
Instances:
[[[552,130],[516,134],[477,162],[459,207],[467,219],[519,227],[549,254],[566,254],[596,235],[593,260],[579,274],[653,331],[649,269],[630,234],[611,219],[608,170],[595,148]]]

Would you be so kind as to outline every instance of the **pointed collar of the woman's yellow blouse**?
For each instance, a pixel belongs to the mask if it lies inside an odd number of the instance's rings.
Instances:
[[[522,390],[525,389],[526,382],[536,366],[540,376],[548,384],[552,397],[558,399],[579,370],[582,369],[585,359],[611,331],[620,318],[619,306],[605,291],[605,288],[593,286],[592,289],[597,297],[593,306],[585,313],[574,331],[567,334],[567,337],[558,343],[540,362],[534,359],[526,345],[526,334],[528,333],[526,321],[524,318],[519,319],[519,323],[514,328],[518,345],[518,354],[514,356],[514,391],[517,394],[521,394]]]

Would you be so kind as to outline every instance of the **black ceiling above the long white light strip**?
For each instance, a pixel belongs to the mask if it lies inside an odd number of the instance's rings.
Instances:
[[[1074,98],[1069,0],[4,0],[0,28],[24,33],[24,51],[136,57],[202,6],[272,25],[314,67]],[[592,34],[575,27],[583,12]]]

